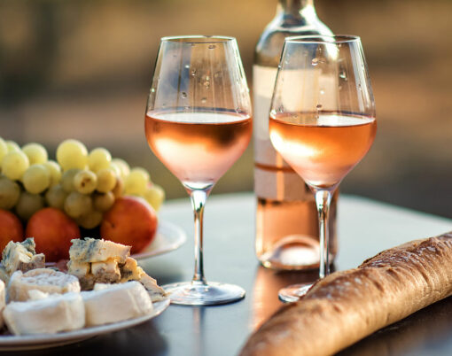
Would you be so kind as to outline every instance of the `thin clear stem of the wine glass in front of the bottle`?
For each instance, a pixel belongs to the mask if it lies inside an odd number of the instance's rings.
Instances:
[[[314,189],[314,194],[316,195],[316,206],[319,221],[319,248],[320,248],[320,262],[318,275],[323,278],[325,275],[330,274],[330,228],[329,224],[329,213],[330,213],[330,203],[332,192],[330,190],[319,190]]]

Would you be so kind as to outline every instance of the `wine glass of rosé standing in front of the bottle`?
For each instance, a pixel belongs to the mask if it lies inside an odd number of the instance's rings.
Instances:
[[[328,213],[342,179],[366,155],[377,132],[375,103],[360,38],[287,37],[269,115],[275,149],[314,192],[319,220],[319,278],[329,274]],[[279,291],[298,300],[312,283]]]

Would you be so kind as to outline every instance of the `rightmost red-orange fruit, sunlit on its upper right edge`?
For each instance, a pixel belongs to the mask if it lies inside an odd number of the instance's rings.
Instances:
[[[141,197],[120,197],[104,214],[100,235],[118,244],[132,246],[131,253],[151,244],[157,229],[157,214]]]

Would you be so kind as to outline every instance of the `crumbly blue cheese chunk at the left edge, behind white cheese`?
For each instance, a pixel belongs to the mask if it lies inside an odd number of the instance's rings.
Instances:
[[[15,271],[27,272],[30,269],[45,267],[43,253],[36,254],[35,239],[28,237],[21,243],[10,241],[2,253],[2,265],[6,275]]]

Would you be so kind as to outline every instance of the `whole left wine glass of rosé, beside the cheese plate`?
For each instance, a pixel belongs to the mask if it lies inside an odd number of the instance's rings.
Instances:
[[[203,213],[215,182],[242,155],[252,135],[251,102],[235,38],[161,39],[145,116],[154,154],[182,182],[195,220],[191,282],[163,286],[172,303],[201,306],[245,297],[242,288],[207,282]]]

